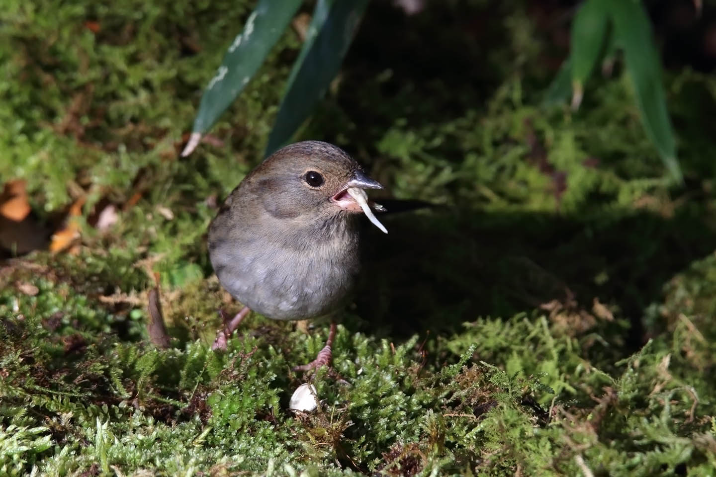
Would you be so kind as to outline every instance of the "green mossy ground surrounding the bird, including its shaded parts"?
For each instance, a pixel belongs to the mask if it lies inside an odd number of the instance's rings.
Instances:
[[[261,160],[293,31],[178,157],[250,3],[0,13],[0,177],[28,182],[47,227],[86,197],[77,254],[0,269],[0,473],[713,475],[716,80],[667,74],[687,179],[671,187],[627,77],[589,84],[578,113],[540,106],[559,52],[522,3],[405,19],[374,2],[299,138],[437,207],[366,230],[342,380],[319,372],[324,406],[294,415],[309,377],[291,367],[326,330],[253,317],[211,352],[216,309],[238,305],[205,250],[216,198]],[[168,350],[147,338],[151,272]]]

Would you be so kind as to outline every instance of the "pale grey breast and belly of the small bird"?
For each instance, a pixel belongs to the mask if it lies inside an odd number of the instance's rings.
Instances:
[[[287,232],[260,240],[214,240],[210,258],[233,297],[275,320],[330,313],[359,271],[357,234],[348,228],[329,237]]]

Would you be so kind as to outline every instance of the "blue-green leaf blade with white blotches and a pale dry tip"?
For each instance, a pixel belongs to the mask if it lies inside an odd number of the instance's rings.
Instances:
[[[256,73],[271,47],[286,30],[289,21],[301,5],[301,0],[259,0],[223,57],[221,66],[208,83],[199,111],[194,120],[193,133],[182,152],[192,152],[204,134],[226,111],[236,96]]]

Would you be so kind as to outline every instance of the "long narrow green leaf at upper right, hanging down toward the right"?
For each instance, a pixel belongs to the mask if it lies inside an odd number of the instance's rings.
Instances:
[[[659,52],[654,44],[649,16],[639,1],[608,0],[616,43],[624,48],[624,60],[632,77],[642,124],[664,165],[677,183],[683,182],[676,158],[676,140],[667,111]]]

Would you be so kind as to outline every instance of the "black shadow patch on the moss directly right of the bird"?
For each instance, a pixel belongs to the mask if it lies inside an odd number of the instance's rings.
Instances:
[[[700,217],[650,212],[601,217],[493,215],[435,208],[367,224],[359,315],[374,333],[451,333],[483,316],[510,317],[558,300],[591,310],[594,298],[629,318],[630,350],[649,335],[644,308],[716,247]]]

